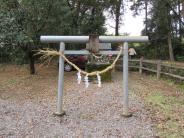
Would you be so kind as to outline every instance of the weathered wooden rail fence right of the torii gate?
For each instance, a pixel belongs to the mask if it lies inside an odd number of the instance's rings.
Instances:
[[[132,65],[132,63],[137,63],[137,64]],[[152,66],[155,66],[155,68],[145,66],[144,65],[145,63],[151,64]],[[118,61],[118,64],[116,65],[116,68],[117,69],[122,68],[122,59],[120,59]],[[183,74],[184,74],[184,66],[179,66],[179,63],[177,63],[177,64],[176,63],[168,64],[168,63],[166,63],[166,61],[144,60],[143,58],[141,58],[141,59],[131,59],[131,60],[129,60],[129,68],[138,69],[140,74],[142,74],[143,71],[150,71],[150,72],[156,73],[157,79],[159,79],[160,76],[163,74],[163,75],[166,75],[166,76],[174,77],[174,78],[182,80],[182,81],[184,80],[184,75],[178,75],[176,73],[170,73],[170,72],[164,71],[164,69],[163,69],[163,68],[170,68],[170,69],[172,68],[172,69],[175,69],[175,70],[182,70]]]

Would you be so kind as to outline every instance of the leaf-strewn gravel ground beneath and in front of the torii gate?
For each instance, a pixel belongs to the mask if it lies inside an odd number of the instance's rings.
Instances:
[[[149,113],[143,103],[132,96],[131,90],[129,103],[133,116],[122,117],[121,72],[113,75],[112,83],[104,83],[102,88],[90,84],[88,89],[84,88],[84,84],[75,83],[74,74],[66,73],[65,76],[63,106],[66,115],[63,117],[53,115],[56,108],[56,72],[25,77],[8,89],[14,90],[9,96],[5,93],[6,87],[0,87],[0,137],[154,137]],[[14,96],[11,96],[12,93]]]

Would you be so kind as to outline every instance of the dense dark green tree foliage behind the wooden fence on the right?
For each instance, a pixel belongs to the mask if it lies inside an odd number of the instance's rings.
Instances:
[[[145,9],[146,3],[149,10]],[[137,0],[131,9],[135,11],[135,15],[139,14],[139,11],[148,10],[145,29],[142,31],[143,35],[150,38],[150,44],[144,46],[146,50],[152,51],[148,57],[172,59],[173,53],[178,59],[177,57],[184,54],[181,50],[184,47],[184,26],[180,0]]]

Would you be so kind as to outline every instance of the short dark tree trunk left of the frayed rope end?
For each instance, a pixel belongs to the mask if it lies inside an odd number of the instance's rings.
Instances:
[[[28,51],[29,55],[29,66],[30,66],[30,74],[35,74],[35,59],[34,59],[34,53],[33,51]]]

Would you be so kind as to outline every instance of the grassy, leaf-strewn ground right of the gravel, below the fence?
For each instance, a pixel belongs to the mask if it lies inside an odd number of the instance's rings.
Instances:
[[[171,80],[134,76],[133,91],[147,105],[160,137],[184,137],[184,90]]]

